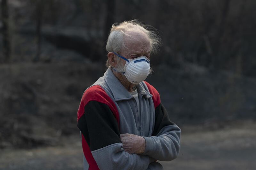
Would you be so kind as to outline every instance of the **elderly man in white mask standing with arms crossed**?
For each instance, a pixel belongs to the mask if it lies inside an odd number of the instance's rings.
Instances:
[[[108,70],[85,90],[77,112],[84,169],[163,169],[157,160],[177,158],[180,128],[144,81],[158,45],[156,34],[138,22],[112,26]]]

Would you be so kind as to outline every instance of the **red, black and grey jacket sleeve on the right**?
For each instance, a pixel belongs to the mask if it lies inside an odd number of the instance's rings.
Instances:
[[[168,113],[160,100],[156,89],[146,82],[153,95],[155,105],[155,126],[151,137],[144,137],[146,149],[144,155],[157,160],[170,161],[178,157],[180,152],[180,128],[170,121]]]

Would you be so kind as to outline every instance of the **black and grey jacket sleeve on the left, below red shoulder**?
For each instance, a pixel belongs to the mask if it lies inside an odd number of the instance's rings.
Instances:
[[[83,102],[81,102],[83,103]],[[83,104],[80,104],[82,107]],[[123,149],[118,122],[108,103],[91,100],[78,114],[77,126],[99,169],[147,169],[154,160],[147,155],[129,154]],[[85,157],[88,157],[85,153]],[[87,162],[88,159],[86,158]],[[90,160],[89,160],[90,161]],[[92,162],[92,161],[91,161]],[[89,166],[90,165],[90,162]]]

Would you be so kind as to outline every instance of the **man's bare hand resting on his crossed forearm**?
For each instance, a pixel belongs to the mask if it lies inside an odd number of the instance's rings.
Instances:
[[[125,152],[130,154],[142,154],[146,148],[146,141],[144,137],[133,135],[130,133],[120,134],[121,141]]]

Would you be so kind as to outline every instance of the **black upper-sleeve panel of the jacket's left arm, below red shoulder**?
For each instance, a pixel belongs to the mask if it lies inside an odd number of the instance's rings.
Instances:
[[[121,143],[115,116],[108,105],[98,101],[90,101],[84,106],[84,115],[78,120],[77,127],[91,151]]]

